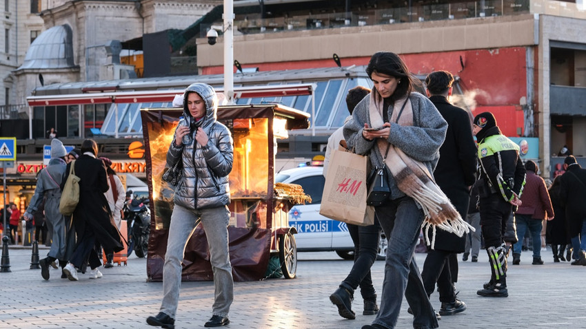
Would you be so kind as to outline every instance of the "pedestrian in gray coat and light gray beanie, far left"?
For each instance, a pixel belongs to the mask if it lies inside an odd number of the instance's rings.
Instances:
[[[34,189],[34,195],[30,198],[30,203],[24,214],[25,218],[30,218],[41,212],[43,200],[46,221],[52,228],[52,243],[47,257],[39,260],[41,266],[41,277],[49,279],[49,266],[53,266],[56,260],[64,268],[67,264],[68,257],[71,255],[72,248],[75,244],[75,233],[72,230],[69,218],[59,212],[59,202],[61,202],[61,184],[65,184],[65,156],[67,151],[61,140],[53,138],[51,140],[51,160],[49,165],[39,171],[37,176],[37,187]]]

